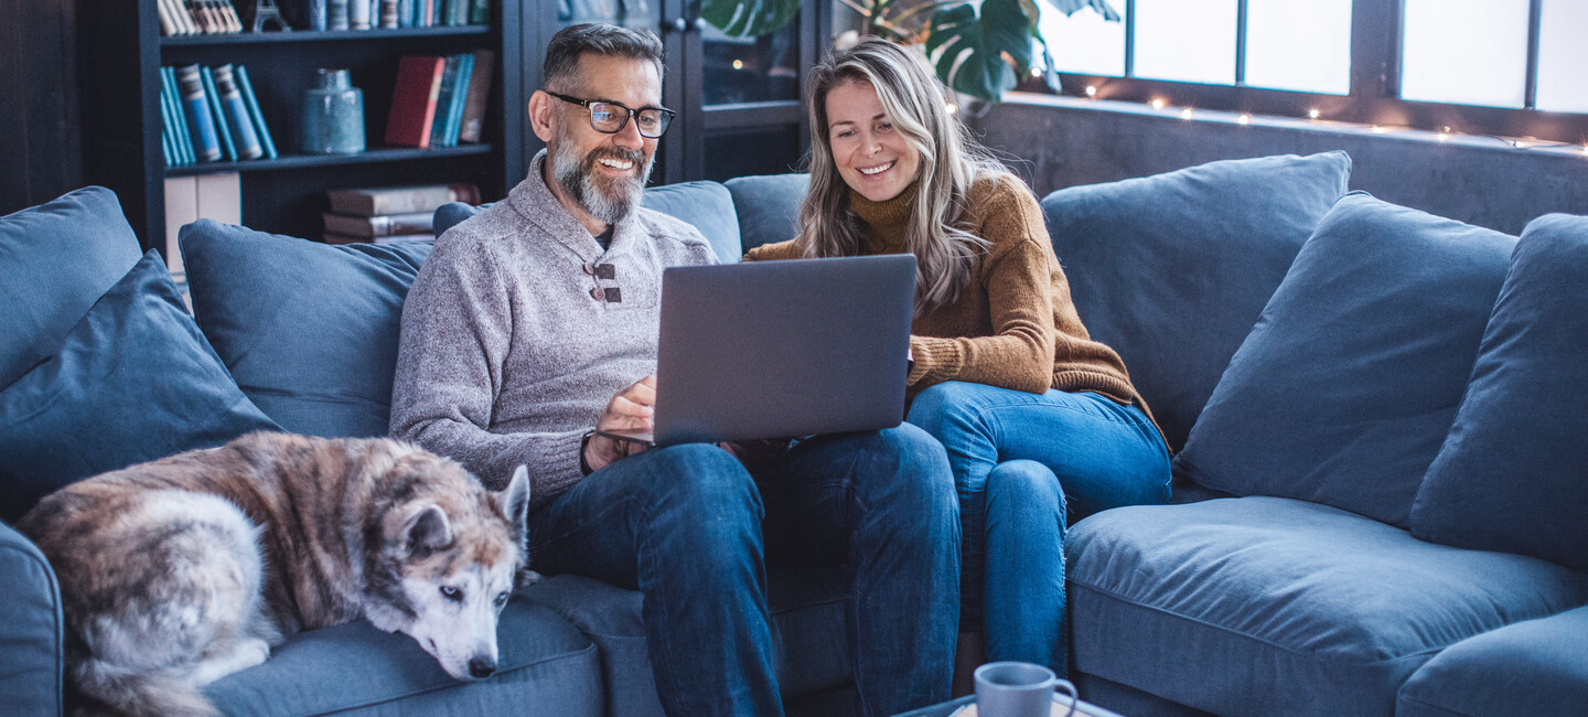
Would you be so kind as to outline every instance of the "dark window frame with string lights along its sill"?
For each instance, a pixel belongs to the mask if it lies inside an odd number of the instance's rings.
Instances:
[[[1059,73],[1064,94],[1088,97],[1096,87],[1097,99],[1142,102],[1164,100],[1174,107],[1228,110],[1255,114],[1278,114],[1355,122],[1380,127],[1410,127],[1431,132],[1493,135],[1536,141],[1588,145],[1588,113],[1537,110],[1539,86],[1539,19],[1544,0],[1529,0],[1528,13],[1528,78],[1524,108],[1455,105],[1401,99],[1401,24],[1405,0],[1351,2],[1351,73],[1345,95],[1250,87],[1245,84],[1247,6],[1237,0],[1235,84],[1199,84],[1134,76],[1135,0],[1123,0],[1124,13],[1124,76]],[[1021,89],[1040,91],[1040,81]]]

